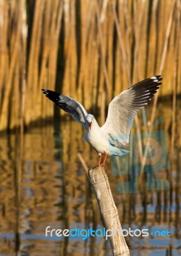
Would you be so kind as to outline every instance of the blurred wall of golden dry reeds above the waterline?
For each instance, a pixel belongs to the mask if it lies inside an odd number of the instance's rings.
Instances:
[[[162,74],[159,95],[181,93],[180,6],[180,0],[0,1],[0,130],[53,115],[41,88],[87,109],[98,106],[101,122],[109,100],[145,77]]]

